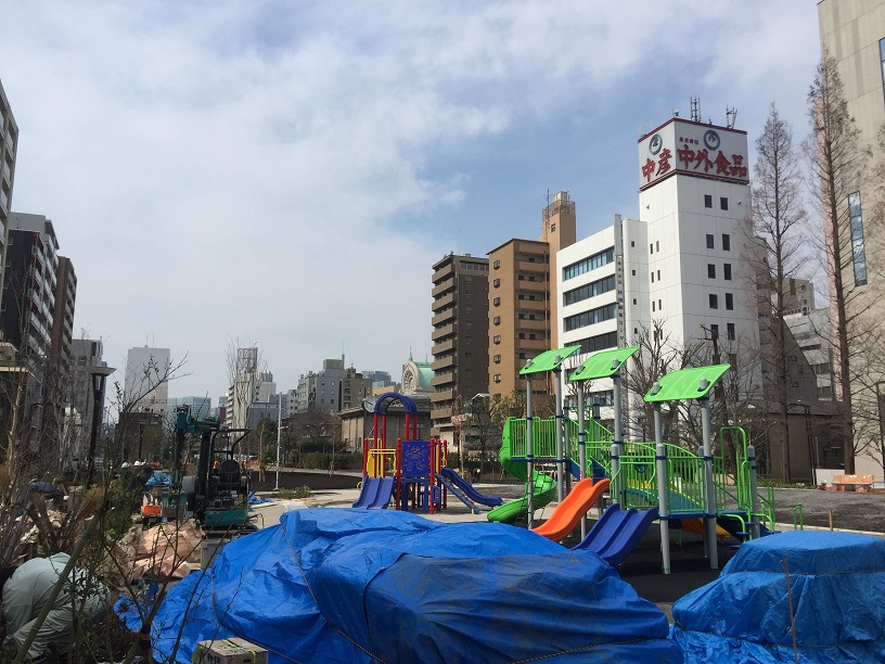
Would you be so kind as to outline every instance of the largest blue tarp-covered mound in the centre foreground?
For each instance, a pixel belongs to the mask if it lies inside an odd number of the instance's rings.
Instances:
[[[129,616],[130,628],[138,621]],[[308,509],[175,586],[155,657],[239,636],[270,662],[681,662],[667,620],[590,551],[501,524]]]

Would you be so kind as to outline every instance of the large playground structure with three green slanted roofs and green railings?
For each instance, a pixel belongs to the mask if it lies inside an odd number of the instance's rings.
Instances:
[[[527,365],[523,372],[528,379],[533,368],[538,368],[535,373],[556,371],[563,359],[573,353],[572,348],[547,352]],[[771,487],[762,487],[760,491],[757,486],[755,450],[748,444],[744,430],[739,426],[721,429],[718,432],[717,452],[713,454],[708,395],[716,381],[729,369],[729,365],[684,369],[662,376],[645,395],[645,400],[655,409],[655,443],[624,442],[620,368],[637,350],[638,347],[632,346],[595,353],[572,375],[573,382],[600,378],[613,380],[614,431],[606,430],[595,419],[587,421],[583,390],[577,391],[578,421],[563,421],[561,375],[556,378],[557,404],[554,418],[534,418],[530,399],[527,399],[526,419],[508,420],[501,446],[504,468],[510,472],[520,467],[534,471],[536,463],[555,463],[557,486],[542,487],[544,493],[538,501],[533,496],[538,490],[537,481],[527,482],[523,499],[505,503],[503,508],[490,512],[489,519],[495,520],[492,518],[497,511],[509,508],[511,512],[515,512],[517,508],[522,508],[525,511],[521,514],[525,514],[531,527],[534,509],[552,500],[553,495],[559,493],[560,502],[565,505],[562,491],[567,488],[572,475],[578,480],[588,476],[608,477],[613,505],[591,533],[587,532],[586,518],[580,519],[581,548],[592,548],[601,554],[607,549],[616,553],[608,558],[610,562],[623,560],[624,544],[630,542],[632,548],[649,525],[657,520],[660,524],[663,569],[664,573],[669,573],[668,531],[670,527],[679,527],[682,520],[701,519],[705,553],[710,567],[717,569],[717,524],[744,541],[771,533],[774,521],[773,491]],[[561,374],[561,371],[557,373]],[[527,380],[527,393],[530,394],[530,380]],[[660,405],[679,399],[694,399],[701,408],[704,432],[701,454],[693,454],[678,444],[663,440]],[[726,470],[723,449],[727,447],[727,439],[732,443],[735,452],[735,470],[732,473]],[[521,461],[525,461],[525,465]],[[525,471],[513,474],[525,478],[528,475],[524,473]],[[659,481],[662,477],[663,482]],[[620,515],[615,515],[614,512],[620,512]],[[592,545],[593,541],[597,545]],[[620,544],[615,546],[615,541]]]

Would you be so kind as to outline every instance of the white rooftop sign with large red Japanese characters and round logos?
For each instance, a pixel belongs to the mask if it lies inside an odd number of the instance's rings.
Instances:
[[[745,131],[672,118],[639,139],[639,189],[683,174],[749,182]]]

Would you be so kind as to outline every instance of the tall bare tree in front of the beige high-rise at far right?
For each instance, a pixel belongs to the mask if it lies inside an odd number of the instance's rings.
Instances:
[[[852,346],[878,336],[863,316],[871,303],[867,284],[860,183],[870,158],[848,104],[836,61],[824,52],[808,93],[811,135],[805,142],[815,180],[811,190],[823,219],[824,256],[830,280],[830,307],[835,353],[836,388],[844,406],[845,471],[855,470],[857,442],[851,421]],[[876,321],[877,322],[877,321]],[[852,373],[854,371],[854,373]]]

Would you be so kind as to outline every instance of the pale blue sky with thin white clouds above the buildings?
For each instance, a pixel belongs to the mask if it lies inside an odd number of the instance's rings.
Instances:
[[[12,208],[52,220],[75,336],[170,348],[209,396],[258,346],[278,390],[346,356],[432,360],[449,252],[637,218],[637,140],[679,111],[798,143],[813,0],[550,3],[0,0],[20,129]],[[753,161],[751,148],[751,161]]]

